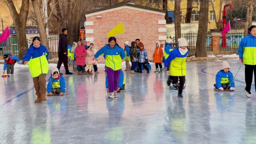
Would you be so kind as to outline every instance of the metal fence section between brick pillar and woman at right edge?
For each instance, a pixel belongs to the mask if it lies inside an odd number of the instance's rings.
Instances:
[[[220,36],[220,51],[238,51],[239,44],[244,38],[244,33],[228,33],[226,34],[227,46],[222,46],[222,36]]]

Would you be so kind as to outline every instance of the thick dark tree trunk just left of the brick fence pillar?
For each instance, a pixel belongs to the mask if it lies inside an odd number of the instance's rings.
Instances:
[[[198,22],[198,35],[196,41],[196,57],[206,57],[206,38],[208,28],[209,0],[200,1],[200,15]]]

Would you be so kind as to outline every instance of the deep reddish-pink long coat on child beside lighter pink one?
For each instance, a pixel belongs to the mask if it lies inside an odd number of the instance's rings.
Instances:
[[[77,46],[75,49],[75,55],[76,55],[76,65],[77,66],[84,66],[85,65],[85,55],[86,55],[86,49],[84,48],[84,45]],[[82,57],[78,57],[81,55]]]

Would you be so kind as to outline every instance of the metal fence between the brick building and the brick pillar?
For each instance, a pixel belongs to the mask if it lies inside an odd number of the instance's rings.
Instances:
[[[187,46],[188,50],[190,52],[195,52],[196,51],[197,33],[183,33],[183,34],[181,34],[181,37],[186,38],[186,40],[188,41],[188,46]],[[171,38],[173,43],[178,43],[178,42],[175,42],[175,35],[170,35],[170,36],[168,36],[168,38]],[[212,52],[212,36],[211,35],[207,35],[206,49],[208,52]]]

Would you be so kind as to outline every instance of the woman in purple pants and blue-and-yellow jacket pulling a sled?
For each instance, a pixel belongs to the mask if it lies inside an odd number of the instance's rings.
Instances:
[[[108,98],[116,98],[119,77],[122,68],[122,59],[125,57],[124,50],[116,44],[116,38],[110,37],[108,44],[102,47],[94,55],[93,60],[96,60],[101,54],[106,56],[106,71],[108,76]]]

